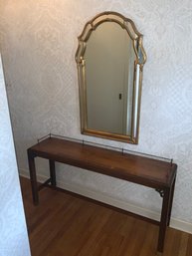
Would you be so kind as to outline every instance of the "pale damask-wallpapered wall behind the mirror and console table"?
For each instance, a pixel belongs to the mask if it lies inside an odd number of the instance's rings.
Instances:
[[[135,22],[147,53],[139,144],[85,137],[173,157],[178,176],[172,216],[192,224],[192,1],[0,0],[0,10],[1,49],[21,170],[28,169],[26,148],[37,137],[50,131],[84,137],[75,53],[85,23],[106,10]],[[47,175],[45,162],[38,163],[39,174]],[[152,189],[74,167],[58,168],[61,182],[159,212],[161,199]]]

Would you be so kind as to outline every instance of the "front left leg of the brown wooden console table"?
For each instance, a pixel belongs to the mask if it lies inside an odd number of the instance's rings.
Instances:
[[[33,202],[35,205],[38,205],[39,195],[38,195],[38,182],[37,182],[36,166],[35,166],[35,156],[30,150],[28,150],[28,163],[29,163],[29,170],[30,170]]]

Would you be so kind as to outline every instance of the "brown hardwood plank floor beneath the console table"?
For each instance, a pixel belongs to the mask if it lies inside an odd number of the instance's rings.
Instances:
[[[154,256],[158,226],[69,193],[44,188],[32,203],[21,178],[32,256]],[[191,256],[192,235],[168,228],[163,256]]]

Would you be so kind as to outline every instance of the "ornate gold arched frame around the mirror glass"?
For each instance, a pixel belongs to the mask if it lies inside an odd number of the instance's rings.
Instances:
[[[88,126],[88,67],[85,56],[88,48],[89,39],[96,31],[98,26],[103,23],[118,24],[118,26],[120,26],[119,28],[126,32],[127,37],[131,42],[131,47],[135,56],[132,67],[133,74],[131,75],[133,78],[133,83],[131,85],[132,98],[130,103],[128,103],[131,106],[131,117],[129,118],[131,124],[129,124],[129,132],[112,132],[110,130],[108,131],[97,128],[89,128]],[[132,20],[125,18],[116,12],[103,12],[101,14],[98,14],[94,19],[86,24],[82,34],[79,36],[79,47],[76,53],[80,88],[80,112],[82,133],[109,139],[121,140],[129,143],[138,143],[142,70],[145,61],[146,54],[142,46],[142,35],[137,31]]]

